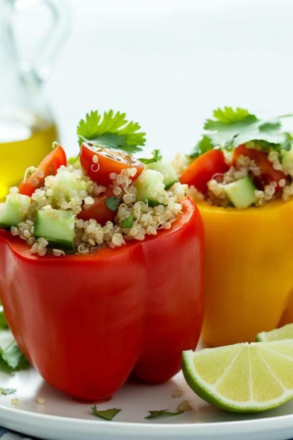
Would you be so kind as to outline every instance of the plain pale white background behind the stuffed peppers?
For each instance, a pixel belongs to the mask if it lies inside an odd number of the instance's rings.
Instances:
[[[190,150],[218,106],[293,111],[293,1],[69,0],[45,86],[64,147],[89,110],[122,110],[147,147]],[[71,18],[70,18],[71,16]],[[43,21],[32,12],[31,28]]]

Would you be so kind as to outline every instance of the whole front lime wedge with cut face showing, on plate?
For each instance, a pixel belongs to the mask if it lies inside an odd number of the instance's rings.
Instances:
[[[235,413],[257,413],[293,398],[293,339],[182,353],[190,388]]]

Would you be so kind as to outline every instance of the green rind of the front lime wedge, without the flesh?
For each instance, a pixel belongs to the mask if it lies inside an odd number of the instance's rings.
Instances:
[[[292,348],[293,341],[289,339],[290,345]],[[255,344],[255,343],[254,343]],[[258,343],[257,343],[258,344]],[[266,346],[269,343],[265,343],[264,346]],[[239,345],[245,345],[245,344],[239,344]],[[246,343],[246,345],[249,345]],[[253,345],[253,343],[251,344]],[[233,347],[233,346],[230,346]],[[227,348],[227,347],[223,347]],[[266,347],[263,347],[266,349]],[[213,349],[204,349],[204,350],[213,350]],[[274,350],[272,350],[274,352]],[[203,350],[201,351],[203,352]],[[240,350],[239,350],[240,352]],[[275,352],[276,356],[279,355],[278,352]],[[237,402],[235,400],[231,400],[225,396],[222,396],[220,393],[218,393],[215,390],[215,387],[208,384],[205,380],[201,378],[199,374],[197,374],[193,359],[194,359],[195,352],[192,350],[185,351],[182,353],[182,370],[184,377],[189,385],[189,387],[203,400],[207,401],[208,403],[216,406],[217,408],[223,409],[225,411],[229,411],[232,413],[260,413],[263,411],[272,410],[287,401],[291,400],[293,398],[293,388],[292,389],[285,389],[285,387],[282,385],[284,392],[281,396],[278,396],[273,399],[269,399],[267,401],[263,402],[256,402],[254,400],[249,400],[247,402]],[[237,355],[235,356],[237,357]],[[292,357],[289,357],[290,360],[293,361]],[[233,361],[232,361],[233,362]],[[229,367],[228,367],[229,368]],[[225,374],[225,373],[224,373]]]

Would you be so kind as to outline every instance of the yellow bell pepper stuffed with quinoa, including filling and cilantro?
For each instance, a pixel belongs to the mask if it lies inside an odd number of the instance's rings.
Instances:
[[[203,337],[212,346],[293,321],[293,137],[283,118],[215,110],[181,163],[206,230]]]

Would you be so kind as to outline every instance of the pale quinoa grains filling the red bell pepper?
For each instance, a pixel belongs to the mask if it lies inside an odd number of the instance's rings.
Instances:
[[[74,190],[64,188],[58,179],[58,173],[68,171],[74,181],[84,181],[85,190],[77,193]],[[113,221],[107,221],[105,225],[99,224],[96,220],[75,220],[74,251],[78,254],[88,254],[97,251],[101,247],[109,246],[115,248],[124,245],[129,240],[145,239],[146,235],[155,236],[159,229],[170,229],[171,224],[181,212],[181,201],[186,198],[188,186],[175,183],[168,191],[165,191],[164,184],[157,184],[155,187],[156,196],[160,203],[150,207],[146,201],[136,201],[137,189],[132,182],[136,174],[135,168],[127,168],[121,174],[110,173],[112,181],[111,188],[120,204],[116,217]],[[42,177],[42,176],[41,176]],[[138,180],[144,179],[144,173]],[[62,249],[51,249],[44,238],[34,237],[34,221],[37,210],[44,211],[48,216],[56,218],[59,211],[70,210],[78,215],[82,209],[89,208],[94,203],[94,197],[105,192],[105,186],[98,185],[85,175],[79,161],[74,165],[61,166],[56,176],[47,176],[44,180],[44,187],[36,189],[32,194],[31,204],[25,201],[21,210],[25,219],[17,227],[11,227],[11,233],[19,236],[31,246],[31,252],[40,256],[54,255],[62,256],[68,251]],[[11,193],[18,193],[18,188],[10,189]],[[0,204],[0,214],[4,203]],[[122,221],[133,216],[133,224],[129,228],[123,226]]]

